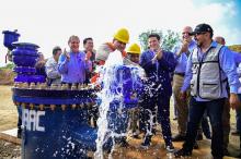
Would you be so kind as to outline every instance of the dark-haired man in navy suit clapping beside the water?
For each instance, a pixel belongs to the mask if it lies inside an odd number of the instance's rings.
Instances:
[[[146,148],[150,145],[157,106],[157,120],[161,123],[167,150],[173,151],[170,127],[170,98],[172,95],[170,74],[175,69],[176,60],[172,52],[163,51],[160,48],[160,36],[158,34],[149,35],[148,42],[150,49],[140,56],[140,66],[144,68],[147,74],[140,120],[149,125],[144,130],[146,134],[141,146]]]

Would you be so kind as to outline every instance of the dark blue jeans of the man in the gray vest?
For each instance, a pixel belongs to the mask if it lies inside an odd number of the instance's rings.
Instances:
[[[211,101],[196,101],[194,97],[190,101],[190,117],[187,122],[186,139],[183,144],[184,150],[192,151],[197,135],[198,124],[205,113],[210,119],[211,124],[211,155],[217,158],[222,158],[223,132],[222,132],[222,110],[225,98]]]

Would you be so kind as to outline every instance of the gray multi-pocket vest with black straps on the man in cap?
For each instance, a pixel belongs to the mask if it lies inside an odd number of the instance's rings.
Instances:
[[[222,70],[219,64],[219,51],[221,48],[221,45],[210,48],[202,60],[198,60],[198,49],[194,49],[192,54],[192,96],[198,96],[204,99],[221,98],[223,85],[227,85],[227,80],[221,80]]]

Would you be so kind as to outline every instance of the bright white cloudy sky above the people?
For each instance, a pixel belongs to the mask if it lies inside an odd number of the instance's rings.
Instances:
[[[71,35],[93,37],[95,48],[112,40],[119,27],[128,28],[130,44],[147,29],[195,27],[199,23],[213,26],[215,35],[226,37],[227,45],[241,44],[240,28],[230,28],[238,8],[227,3],[194,5],[192,0],[5,0],[0,2],[0,30],[18,29],[20,41],[38,45],[46,58],[54,46],[67,47]],[[237,20],[238,21],[238,20]],[[7,48],[0,36],[0,65]],[[127,46],[128,47],[128,46]],[[82,48],[82,46],[81,46]]]

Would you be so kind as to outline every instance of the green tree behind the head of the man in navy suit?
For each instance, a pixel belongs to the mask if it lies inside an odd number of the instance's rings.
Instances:
[[[171,51],[180,41],[180,35],[171,29],[168,29],[164,34],[162,30],[149,29],[139,35],[139,41],[144,51],[148,49],[148,36],[153,33],[161,37],[161,47],[164,50]]]

